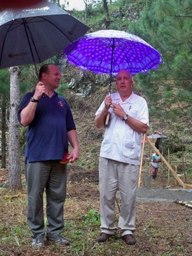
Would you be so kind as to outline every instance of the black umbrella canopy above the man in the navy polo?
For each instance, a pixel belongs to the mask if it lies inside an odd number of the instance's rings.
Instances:
[[[0,68],[44,62],[89,27],[51,2],[0,12]]]

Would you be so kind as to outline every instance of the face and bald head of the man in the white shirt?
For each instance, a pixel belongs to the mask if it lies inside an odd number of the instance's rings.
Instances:
[[[125,70],[120,71],[116,77],[116,85],[120,94],[121,92],[130,92],[133,80],[129,72]]]

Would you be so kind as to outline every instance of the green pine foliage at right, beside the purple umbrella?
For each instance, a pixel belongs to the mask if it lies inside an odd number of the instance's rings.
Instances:
[[[130,24],[134,34],[162,54],[164,64],[158,70],[136,77],[150,110],[161,111],[164,122],[192,118],[190,11],[190,1],[147,1]]]

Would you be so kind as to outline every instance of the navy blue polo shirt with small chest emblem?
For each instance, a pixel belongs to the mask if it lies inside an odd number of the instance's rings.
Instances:
[[[18,110],[20,123],[21,111],[32,95],[34,91],[22,98]],[[57,92],[51,98],[45,95],[38,101],[35,118],[28,125],[25,161],[61,160],[68,152],[68,131],[73,129],[74,118],[65,98],[58,96]]]

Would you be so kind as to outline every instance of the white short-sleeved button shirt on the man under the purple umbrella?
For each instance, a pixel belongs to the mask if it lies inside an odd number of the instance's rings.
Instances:
[[[149,125],[149,113],[147,102],[141,96],[131,94],[126,101],[122,101],[118,92],[111,94],[112,102],[120,104],[127,115]],[[95,115],[99,115],[104,108],[104,101],[98,108]],[[104,139],[101,143],[100,156],[124,163],[139,165],[141,158],[141,137],[142,134],[134,131],[118,115],[115,115],[113,108],[109,109],[110,121],[104,132]]]

